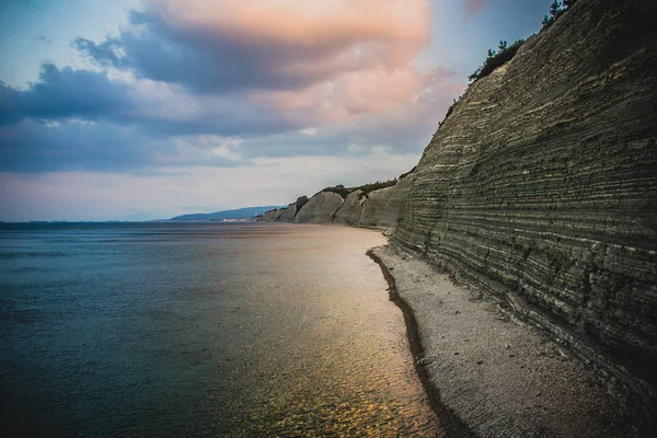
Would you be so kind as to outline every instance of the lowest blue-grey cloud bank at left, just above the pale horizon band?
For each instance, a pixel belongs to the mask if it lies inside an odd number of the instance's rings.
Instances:
[[[219,140],[200,141],[192,136],[198,141],[181,141],[184,138],[158,137],[136,126],[106,122],[25,119],[0,128],[0,172],[143,172],[154,166],[224,168],[246,161],[229,148],[217,149],[221,147]]]

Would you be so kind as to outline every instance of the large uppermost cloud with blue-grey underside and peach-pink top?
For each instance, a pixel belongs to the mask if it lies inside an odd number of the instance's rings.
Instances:
[[[299,90],[406,68],[429,42],[425,0],[152,1],[118,38],[77,47],[101,65],[196,92]]]

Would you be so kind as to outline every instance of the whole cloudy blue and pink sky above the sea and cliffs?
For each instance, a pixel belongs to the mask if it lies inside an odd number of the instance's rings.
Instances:
[[[411,170],[551,0],[3,0],[0,220],[287,205]]]

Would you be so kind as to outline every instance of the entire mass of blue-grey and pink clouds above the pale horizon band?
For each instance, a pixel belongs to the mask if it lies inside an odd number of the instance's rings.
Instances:
[[[118,36],[74,41],[93,69],[46,64],[25,90],[0,84],[0,170],[140,173],[418,152],[464,87],[416,62],[428,8],[147,2]]]

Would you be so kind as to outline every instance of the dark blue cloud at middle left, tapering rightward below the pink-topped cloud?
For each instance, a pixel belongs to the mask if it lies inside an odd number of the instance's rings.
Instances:
[[[163,82],[130,73],[59,69],[45,64],[39,81],[26,90],[0,81],[0,127],[32,119],[39,123],[71,118],[139,125],[153,135],[268,134],[290,128],[279,114],[247,99],[191,95]]]

